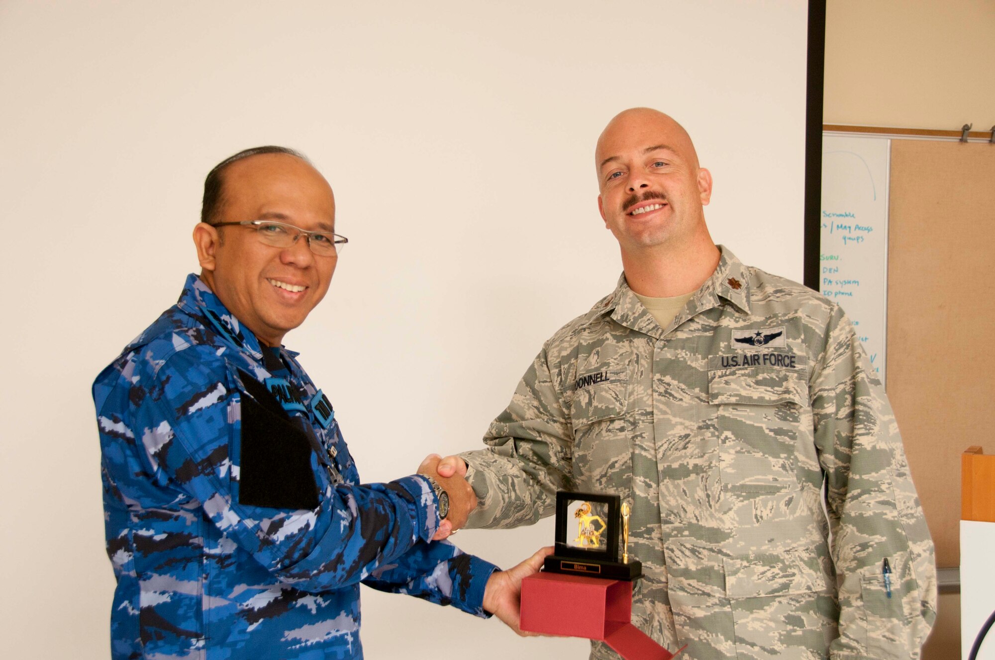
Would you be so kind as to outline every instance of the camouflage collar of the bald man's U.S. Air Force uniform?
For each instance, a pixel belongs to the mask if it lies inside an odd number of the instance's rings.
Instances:
[[[721,304],[727,300],[737,309],[749,313],[749,279],[746,266],[736,255],[724,246],[718,246],[719,258],[715,271],[697,289],[695,295],[674,319],[671,327],[676,327],[696,314]],[[605,301],[603,313],[610,313],[618,323],[651,337],[661,338],[666,328],[661,328],[653,315],[643,306],[636,294],[629,288],[625,273],[619,277],[615,291]]]

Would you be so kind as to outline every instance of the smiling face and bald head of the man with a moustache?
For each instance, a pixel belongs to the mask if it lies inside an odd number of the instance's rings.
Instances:
[[[598,209],[623,253],[680,248],[704,229],[711,175],[698,166],[691,137],[650,108],[613,118],[598,138]]]

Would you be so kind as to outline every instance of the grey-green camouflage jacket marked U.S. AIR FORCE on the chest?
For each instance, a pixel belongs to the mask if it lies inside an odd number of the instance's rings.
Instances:
[[[672,651],[919,655],[932,542],[882,385],[818,293],[721,248],[661,328],[623,275],[545,343],[485,442],[463,454],[471,527],[533,523],[557,489],[631,502],[633,621]]]

